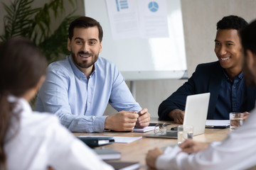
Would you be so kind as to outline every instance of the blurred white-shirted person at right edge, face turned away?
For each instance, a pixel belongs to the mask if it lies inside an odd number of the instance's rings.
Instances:
[[[245,82],[256,86],[256,20],[240,31],[244,52]],[[155,148],[146,154],[146,164],[156,169],[249,169],[256,165],[256,109],[242,127],[223,142],[210,145],[186,140],[165,152]]]

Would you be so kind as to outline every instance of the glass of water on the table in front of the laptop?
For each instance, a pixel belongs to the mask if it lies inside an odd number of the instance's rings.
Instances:
[[[178,145],[186,139],[193,139],[193,126],[191,125],[178,125]]]

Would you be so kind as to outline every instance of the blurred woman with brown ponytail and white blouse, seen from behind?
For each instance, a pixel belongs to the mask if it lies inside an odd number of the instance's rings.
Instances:
[[[0,169],[113,169],[60,125],[33,112],[29,101],[45,79],[36,45],[11,38],[0,45]]]

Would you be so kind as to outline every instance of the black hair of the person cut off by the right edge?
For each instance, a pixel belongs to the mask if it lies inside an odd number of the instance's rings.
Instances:
[[[240,30],[241,44],[244,49],[256,54],[256,20]]]

